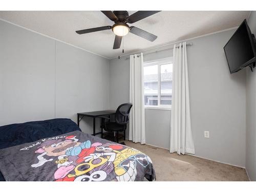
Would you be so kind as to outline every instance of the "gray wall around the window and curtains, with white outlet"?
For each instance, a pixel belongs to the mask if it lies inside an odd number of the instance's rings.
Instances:
[[[197,156],[244,167],[245,71],[230,75],[223,52],[233,32],[196,38],[187,47],[191,123]],[[162,52],[154,54],[148,59]],[[112,59],[110,75],[110,103],[116,108],[129,100],[129,59]],[[146,143],[168,148],[170,111],[148,109],[145,119]],[[204,138],[204,131],[210,132],[209,139]]]

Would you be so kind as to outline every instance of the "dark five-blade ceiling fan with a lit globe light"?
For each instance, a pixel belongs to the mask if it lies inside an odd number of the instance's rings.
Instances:
[[[145,38],[150,41],[156,40],[157,36],[153,35],[151,33],[148,33],[142,29],[139,29],[134,26],[129,26],[129,24],[133,24],[135,22],[138,22],[138,20],[141,20],[143,18],[146,18],[148,16],[151,16],[155,13],[158,13],[160,11],[137,11],[134,14],[129,16],[129,13],[127,11],[101,11],[103,14],[105,14],[110,20],[115,22],[113,26],[103,26],[103,27],[96,27],[91,29],[83,29],[76,31],[78,34],[84,34],[84,33],[91,33],[96,31],[103,31],[112,29],[112,31],[115,33],[115,41],[113,49],[119,49],[122,41],[122,37],[127,35],[129,32],[138,35],[142,38]]]

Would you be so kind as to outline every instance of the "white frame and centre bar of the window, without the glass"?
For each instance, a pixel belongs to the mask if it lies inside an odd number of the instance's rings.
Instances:
[[[147,66],[156,66],[157,65],[157,77],[158,77],[158,90],[157,90],[157,103],[158,105],[145,105],[144,103],[144,108],[145,109],[154,109],[154,110],[172,110],[172,105],[167,105],[167,104],[160,104],[160,96],[161,96],[161,65],[166,65],[166,64],[173,64],[173,57],[166,57],[163,59],[156,59],[156,60],[151,60],[151,61],[145,61],[143,62],[143,70],[144,67]],[[144,82],[143,82],[144,84]],[[144,89],[143,89],[144,90]]]

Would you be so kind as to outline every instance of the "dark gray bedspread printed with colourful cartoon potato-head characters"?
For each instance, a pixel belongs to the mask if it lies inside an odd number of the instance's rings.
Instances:
[[[150,157],[80,131],[0,150],[6,181],[143,181],[155,179]]]

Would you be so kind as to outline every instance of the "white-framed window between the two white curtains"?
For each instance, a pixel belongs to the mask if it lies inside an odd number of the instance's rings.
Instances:
[[[144,104],[168,108],[172,105],[172,58],[144,62]]]

